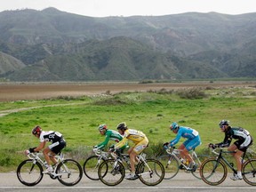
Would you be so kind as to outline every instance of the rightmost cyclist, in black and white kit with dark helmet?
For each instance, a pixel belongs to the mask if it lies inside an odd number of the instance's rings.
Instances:
[[[220,130],[221,132],[225,132],[225,138],[222,142],[216,144],[209,144],[209,148],[228,148],[228,151],[234,151],[234,153],[230,153],[236,159],[237,166],[237,174],[233,175],[231,180],[242,180],[242,162],[241,157],[249,146],[252,145],[252,136],[250,132],[245,130],[242,127],[231,127],[229,126],[228,120],[220,121]],[[232,139],[236,141],[230,145]]]

